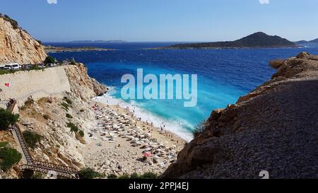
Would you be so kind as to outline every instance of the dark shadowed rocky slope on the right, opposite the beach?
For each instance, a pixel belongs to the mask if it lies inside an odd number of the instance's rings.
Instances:
[[[204,131],[163,178],[318,178],[318,56],[301,53],[235,105],[214,110]]]

